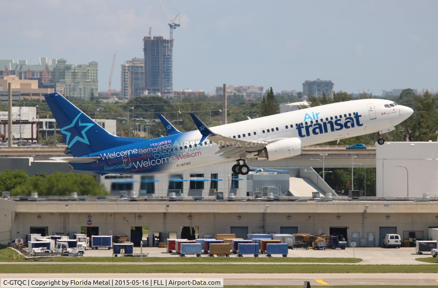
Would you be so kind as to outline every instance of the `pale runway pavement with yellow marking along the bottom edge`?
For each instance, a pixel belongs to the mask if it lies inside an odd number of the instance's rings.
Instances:
[[[59,278],[60,274],[1,274],[0,278]],[[336,273],[336,274],[130,274],[96,273],[66,274],[68,278],[223,278],[224,285],[303,285],[311,281],[312,286],[329,285],[436,285],[438,274],[433,273]],[[327,284],[324,284],[327,283]]]

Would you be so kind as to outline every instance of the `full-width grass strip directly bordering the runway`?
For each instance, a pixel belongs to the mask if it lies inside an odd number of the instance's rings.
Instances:
[[[191,265],[108,265],[108,264],[32,264],[31,269],[17,269],[1,264],[2,273],[436,273],[435,265],[348,265],[348,264],[191,264]]]

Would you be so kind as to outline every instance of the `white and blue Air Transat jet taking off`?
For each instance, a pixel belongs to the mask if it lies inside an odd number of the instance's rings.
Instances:
[[[156,174],[226,162],[236,162],[233,173],[246,175],[248,158],[278,160],[299,155],[308,145],[381,135],[413,113],[389,100],[360,99],[216,127],[191,114],[198,130],[190,132],[178,131],[158,114],[169,136],[140,139],[109,134],[59,93],[44,97],[74,156],[62,160],[74,170],[102,175]]]

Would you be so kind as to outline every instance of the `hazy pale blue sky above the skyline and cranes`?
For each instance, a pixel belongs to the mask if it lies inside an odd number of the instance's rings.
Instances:
[[[162,0],[173,16],[167,0]],[[438,1],[170,0],[173,89],[272,86],[302,90],[331,79],[335,90],[438,90]],[[2,0],[0,59],[99,62],[99,90],[120,89],[120,64],[143,57],[143,36],[168,37],[158,0]]]

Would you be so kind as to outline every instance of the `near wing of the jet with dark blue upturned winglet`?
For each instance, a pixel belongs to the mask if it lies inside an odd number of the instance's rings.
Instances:
[[[208,137],[208,140],[219,145],[219,151],[217,151],[216,154],[220,154],[219,156],[222,158],[255,152],[268,144],[266,141],[245,141],[216,134],[212,132],[212,130],[210,130],[196,115],[193,113],[189,114],[196,124],[196,127],[198,127],[199,132],[201,132],[202,137],[200,143]]]

